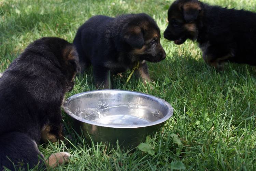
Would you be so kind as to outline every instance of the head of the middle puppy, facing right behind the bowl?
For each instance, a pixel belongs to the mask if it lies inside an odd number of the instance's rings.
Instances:
[[[131,15],[122,35],[129,46],[132,62],[138,60],[159,62],[166,58],[165,50],[160,43],[160,30],[150,16]]]

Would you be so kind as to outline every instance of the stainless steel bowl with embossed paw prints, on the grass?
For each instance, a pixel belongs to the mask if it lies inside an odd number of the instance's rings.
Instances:
[[[71,96],[63,109],[74,129],[89,141],[136,147],[172,116],[172,106],[160,98],[134,91],[96,90]]]

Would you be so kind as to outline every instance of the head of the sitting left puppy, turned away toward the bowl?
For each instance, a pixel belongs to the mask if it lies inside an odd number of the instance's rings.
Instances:
[[[60,38],[42,38],[40,39],[41,41],[55,56],[50,60],[65,75],[65,78],[62,78],[66,87],[65,90],[71,91],[74,86],[75,76],[80,72],[79,57],[74,45]]]

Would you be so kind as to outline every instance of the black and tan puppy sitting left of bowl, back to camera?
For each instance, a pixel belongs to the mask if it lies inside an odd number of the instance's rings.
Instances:
[[[6,69],[0,78],[0,170],[46,167],[37,144],[63,138],[61,105],[78,71],[75,47],[59,38],[33,42]],[[68,158],[56,153],[46,165]]]

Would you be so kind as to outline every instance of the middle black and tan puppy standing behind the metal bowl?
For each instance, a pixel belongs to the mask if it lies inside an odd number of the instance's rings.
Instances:
[[[82,73],[93,66],[97,87],[111,88],[108,73],[136,70],[144,83],[150,81],[145,61],[159,62],[166,58],[160,44],[160,30],[146,14],[127,14],[111,18],[94,16],[77,31],[73,44],[79,54]]]

